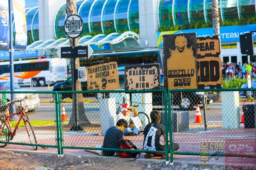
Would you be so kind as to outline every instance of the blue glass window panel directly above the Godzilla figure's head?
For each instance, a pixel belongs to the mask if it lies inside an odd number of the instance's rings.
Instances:
[[[174,1],[174,21],[176,25],[187,24],[187,0]]]

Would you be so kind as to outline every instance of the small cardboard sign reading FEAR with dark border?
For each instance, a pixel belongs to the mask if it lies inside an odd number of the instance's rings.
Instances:
[[[197,59],[219,57],[220,39],[218,35],[197,38]]]

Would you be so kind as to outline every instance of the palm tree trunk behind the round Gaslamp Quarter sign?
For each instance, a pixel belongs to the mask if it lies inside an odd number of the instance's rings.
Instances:
[[[77,15],[77,10],[76,10],[76,0],[66,0],[66,13],[67,13],[67,16],[70,16],[70,15],[73,15],[73,14],[76,14]],[[78,45],[78,38],[75,38],[75,41],[76,41],[76,45]],[[69,38],[69,45],[70,47],[73,46],[73,42],[72,42],[72,38]],[[76,58],[76,68],[80,67],[80,63],[79,63],[79,58]],[[72,77],[74,77],[74,73],[73,73],[73,60],[72,58],[70,59],[70,64],[71,64],[71,75]],[[74,91],[75,89],[75,83],[73,83],[74,81],[72,80],[72,90]],[[81,82],[79,80],[77,80],[77,83],[76,83],[76,90],[77,91],[82,91],[82,86],[81,86]],[[73,94],[73,99],[74,99],[74,95]],[[88,118],[86,117],[85,115],[85,109],[84,109],[84,103],[83,103],[83,96],[82,96],[82,93],[78,93],[76,94],[76,101],[77,101],[77,107],[78,107],[78,120],[79,120],[79,125],[89,125],[90,122],[88,120]],[[75,100],[73,100],[72,102],[72,106],[74,106],[76,103]],[[69,125],[74,125],[75,123],[75,114],[76,114],[76,111],[74,109],[74,107],[72,107],[72,115],[71,115],[71,118],[69,120]]]

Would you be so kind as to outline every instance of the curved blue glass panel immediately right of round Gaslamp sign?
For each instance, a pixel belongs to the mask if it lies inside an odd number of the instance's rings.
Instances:
[[[84,30],[82,32],[81,36],[85,36],[87,34],[89,34],[89,12],[92,6],[92,3],[94,2],[94,0],[88,0],[88,1],[84,1],[84,3],[81,4],[80,8],[79,8],[79,13],[78,15],[82,18],[83,22],[84,22]]]

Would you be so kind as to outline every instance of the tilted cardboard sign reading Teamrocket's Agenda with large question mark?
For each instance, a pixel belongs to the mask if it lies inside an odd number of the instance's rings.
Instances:
[[[86,67],[88,90],[116,90],[120,88],[117,62]]]

